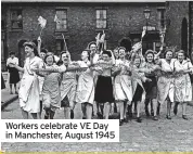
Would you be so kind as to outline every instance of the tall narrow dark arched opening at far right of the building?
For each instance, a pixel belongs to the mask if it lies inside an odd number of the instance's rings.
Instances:
[[[188,54],[188,22],[184,17],[181,26],[181,49]]]

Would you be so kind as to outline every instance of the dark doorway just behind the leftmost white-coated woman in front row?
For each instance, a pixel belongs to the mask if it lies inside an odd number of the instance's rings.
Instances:
[[[24,66],[24,61],[25,61],[25,50],[24,50],[24,42],[26,42],[26,40],[21,40],[20,42],[18,42],[18,60],[20,60],[20,62],[18,62],[18,64],[20,64],[20,66]]]

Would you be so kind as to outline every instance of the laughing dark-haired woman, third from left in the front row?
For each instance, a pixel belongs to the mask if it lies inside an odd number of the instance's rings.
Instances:
[[[70,54],[68,51],[61,53],[62,65],[65,65],[66,68],[72,67]],[[66,119],[74,118],[74,108],[75,108],[75,95],[76,95],[77,80],[76,73],[66,72],[63,74],[61,82],[61,106],[64,107],[64,117]]]

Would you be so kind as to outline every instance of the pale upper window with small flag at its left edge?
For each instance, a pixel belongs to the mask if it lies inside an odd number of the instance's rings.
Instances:
[[[54,22],[56,22],[56,30],[67,30],[67,10],[56,10]]]

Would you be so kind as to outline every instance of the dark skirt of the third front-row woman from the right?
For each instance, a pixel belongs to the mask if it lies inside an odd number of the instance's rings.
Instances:
[[[157,80],[155,76],[149,76],[152,81],[144,82],[144,89],[146,92],[146,99],[156,99],[157,98]]]

